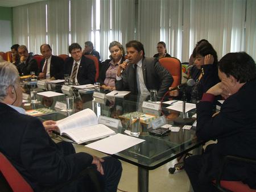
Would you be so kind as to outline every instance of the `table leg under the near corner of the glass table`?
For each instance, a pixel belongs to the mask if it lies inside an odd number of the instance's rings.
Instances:
[[[138,192],[148,192],[148,170],[138,168]]]

